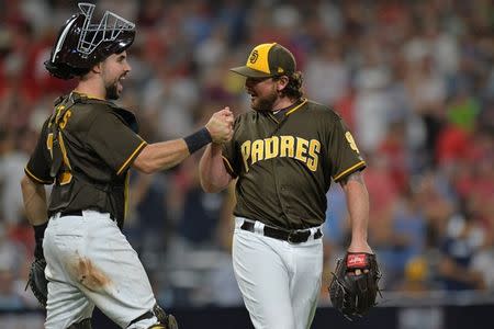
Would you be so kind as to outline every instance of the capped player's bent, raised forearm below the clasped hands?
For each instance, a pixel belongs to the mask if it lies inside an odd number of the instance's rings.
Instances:
[[[202,189],[209,193],[220,192],[228,185],[232,177],[223,163],[221,145],[206,147],[199,162],[199,177]]]

